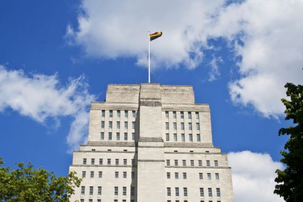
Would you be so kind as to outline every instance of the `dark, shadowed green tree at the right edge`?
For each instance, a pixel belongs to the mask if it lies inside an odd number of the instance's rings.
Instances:
[[[284,170],[276,170],[278,183],[274,191],[286,202],[303,201],[303,86],[286,83],[286,95],[290,98],[281,99],[286,107],[285,120],[292,120],[293,125],[279,130],[280,135],[289,135],[281,151],[281,162],[286,165]]]

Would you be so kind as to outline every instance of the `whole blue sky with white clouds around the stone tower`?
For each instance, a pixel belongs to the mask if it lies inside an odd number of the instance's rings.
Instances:
[[[249,170],[238,171],[241,157],[256,157],[259,168],[270,171],[281,167],[275,161],[286,138],[278,130],[289,124],[283,86],[303,81],[302,1],[147,5],[0,2],[0,157],[6,165],[30,161],[66,175],[70,151],[87,136],[90,101],[103,101],[107,84],[146,83],[148,31],[162,30],[151,42],[151,82],[192,85],[196,103],[210,104],[214,145],[230,153],[234,176]],[[259,179],[248,176],[247,187]],[[233,180],[235,201],[241,201]]]

